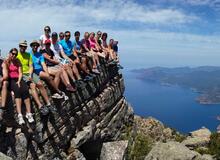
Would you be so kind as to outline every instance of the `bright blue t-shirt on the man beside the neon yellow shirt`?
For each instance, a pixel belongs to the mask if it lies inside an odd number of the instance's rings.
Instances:
[[[31,51],[30,53],[33,61],[34,70],[43,70],[41,63],[45,62],[44,56],[40,52],[33,53]]]

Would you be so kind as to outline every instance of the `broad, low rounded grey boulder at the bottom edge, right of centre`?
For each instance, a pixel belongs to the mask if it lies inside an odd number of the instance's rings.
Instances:
[[[145,160],[201,160],[201,155],[178,142],[157,143]]]

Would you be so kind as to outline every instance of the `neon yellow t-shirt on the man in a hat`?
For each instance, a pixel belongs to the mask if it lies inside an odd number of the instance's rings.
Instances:
[[[18,52],[17,59],[22,65],[22,73],[29,74],[29,65],[33,64],[31,54]]]

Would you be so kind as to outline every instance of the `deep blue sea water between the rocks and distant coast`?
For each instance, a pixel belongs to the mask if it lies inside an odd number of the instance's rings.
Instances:
[[[135,114],[152,116],[182,133],[202,126],[216,131],[220,121],[220,105],[201,105],[195,101],[198,93],[179,86],[162,86],[137,79],[137,74],[123,71],[125,97]]]

